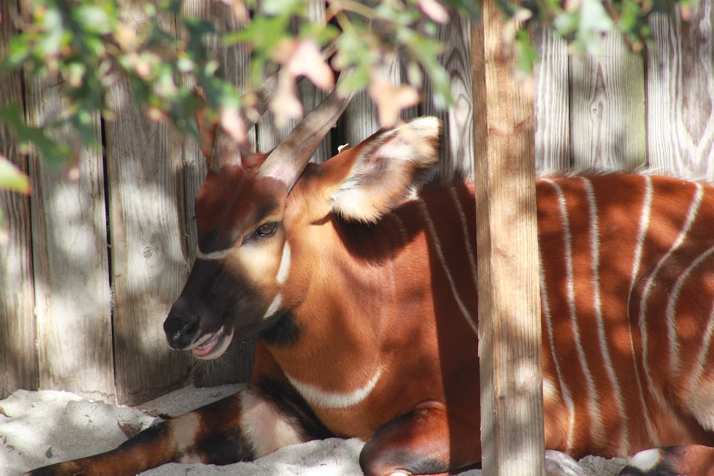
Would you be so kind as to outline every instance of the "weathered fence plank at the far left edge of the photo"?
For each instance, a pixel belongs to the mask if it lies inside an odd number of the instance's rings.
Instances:
[[[14,1],[0,2],[0,58],[16,31],[9,19],[16,15]],[[0,106],[24,105],[20,74],[4,76]],[[26,156],[19,154],[9,129],[0,125],[0,155],[27,172]],[[19,193],[0,191],[0,400],[14,390],[35,390],[39,385],[30,199]],[[4,231],[2,230],[4,228]]]

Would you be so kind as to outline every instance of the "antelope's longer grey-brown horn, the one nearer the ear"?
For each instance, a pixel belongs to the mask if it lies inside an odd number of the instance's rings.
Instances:
[[[347,108],[354,93],[339,91],[339,83],[329,96],[313,109],[293,131],[270,153],[258,171],[258,176],[273,177],[285,183],[290,193],[298,177],[308,165],[323,138]]]

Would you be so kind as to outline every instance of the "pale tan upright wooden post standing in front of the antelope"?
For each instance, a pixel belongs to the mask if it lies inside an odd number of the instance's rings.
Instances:
[[[533,97],[495,3],[472,29],[483,474],[543,475]]]

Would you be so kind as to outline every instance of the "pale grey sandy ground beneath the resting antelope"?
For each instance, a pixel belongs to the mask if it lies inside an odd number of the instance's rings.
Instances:
[[[20,475],[34,467],[111,450],[126,440],[122,428],[144,429],[158,421],[152,415],[178,415],[235,393],[238,388],[184,388],[138,408],[91,402],[54,390],[19,390],[0,400],[0,476]],[[171,464],[141,474],[361,476],[357,460],[362,445],[358,440],[332,438],[284,447],[255,462],[228,466]],[[579,467],[568,464],[561,464],[558,474],[611,476],[623,462],[586,458]],[[461,475],[479,476],[481,472],[471,470]]]

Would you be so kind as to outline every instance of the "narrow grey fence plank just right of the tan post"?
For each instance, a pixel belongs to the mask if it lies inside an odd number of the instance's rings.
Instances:
[[[533,65],[535,90],[535,168],[565,171],[570,167],[568,46],[548,26],[533,29],[540,61]]]

